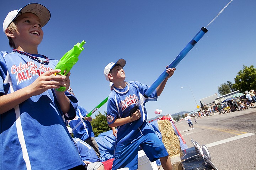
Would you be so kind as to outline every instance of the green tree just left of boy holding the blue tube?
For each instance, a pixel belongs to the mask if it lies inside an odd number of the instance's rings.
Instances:
[[[107,124],[107,113],[104,113],[105,114],[98,112],[98,114],[95,115],[95,119],[92,119],[91,121],[92,131],[94,132],[95,137],[103,132],[111,130]]]

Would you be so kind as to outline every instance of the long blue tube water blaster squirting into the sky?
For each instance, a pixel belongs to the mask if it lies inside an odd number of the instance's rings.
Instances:
[[[178,63],[187,55],[187,53],[196,45],[196,43],[207,33],[207,29],[202,27],[201,30],[194,36],[194,38],[187,44],[187,46],[180,52],[180,54],[174,59],[174,61],[168,66],[168,68],[175,68]],[[158,79],[149,87],[145,92],[144,97],[139,100],[139,102],[130,110],[130,114],[134,113],[139,106],[151,95],[151,93],[164,81],[168,76],[166,70],[159,76]]]

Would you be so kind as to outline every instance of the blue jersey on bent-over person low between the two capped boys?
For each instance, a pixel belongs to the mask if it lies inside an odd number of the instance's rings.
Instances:
[[[82,157],[82,160],[87,160],[91,163],[101,162],[100,158],[98,158],[94,149],[89,144],[76,137],[74,137],[73,140],[78,147],[78,151]]]

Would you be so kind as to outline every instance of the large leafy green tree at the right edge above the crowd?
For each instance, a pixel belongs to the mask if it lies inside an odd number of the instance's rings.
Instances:
[[[244,68],[238,72],[233,87],[240,92],[256,89],[256,68],[253,65],[250,67],[244,66]]]

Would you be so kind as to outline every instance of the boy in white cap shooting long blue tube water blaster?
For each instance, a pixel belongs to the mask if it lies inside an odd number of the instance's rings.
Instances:
[[[113,83],[113,90],[107,102],[107,122],[110,127],[117,127],[112,170],[125,167],[130,170],[138,169],[139,146],[151,162],[160,158],[162,167],[165,170],[171,170],[171,161],[164,144],[146,122],[145,103],[157,100],[167,80],[174,74],[175,68],[166,67],[166,73],[169,74],[166,79],[135,113],[130,114],[130,110],[138,103],[149,86],[138,81],[124,81],[126,78],[123,70],[125,64],[124,59],[119,59],[116,63],[109,63],[104,69],[106,80]]]

